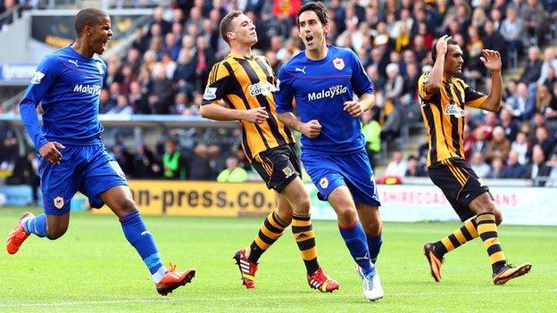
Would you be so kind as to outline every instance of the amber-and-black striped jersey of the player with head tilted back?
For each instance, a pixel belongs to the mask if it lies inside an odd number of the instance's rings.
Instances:
[[[277,86],[278,80],[263,56],[246,58],[229,54],[216,63],[209,74],[202,105],[223,100],[230,109],[264,107],[269,113],[270,118],[260,124],[240,120],[242,146],[250,161],[260,152],[295,143],[290,130],[277,119],[273,95]]]

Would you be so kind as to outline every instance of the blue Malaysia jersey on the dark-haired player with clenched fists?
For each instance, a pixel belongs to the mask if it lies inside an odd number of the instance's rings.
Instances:
[[[327,56],[313,61],[304,52],[296,54],[278,71],[275,94],[277,112],[293,110],[292,100],[303,122],[321,124],[320,136],[302,136],[305,152],[342,154],[362,149],[365,138],[359,118],[344,111],[344,103],[373,93],[370,78],[352,50],[328,45]]]

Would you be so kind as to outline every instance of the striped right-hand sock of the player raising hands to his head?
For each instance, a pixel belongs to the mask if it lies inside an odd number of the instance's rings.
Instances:
[[[497,224],[495,224],[495,215],[493,213],[479,214],[476,218],[478,223],[478,234],[484,242],[491,268],[494,274],[498,273],[506,264],[503,248],[499,243],[497,235]]]

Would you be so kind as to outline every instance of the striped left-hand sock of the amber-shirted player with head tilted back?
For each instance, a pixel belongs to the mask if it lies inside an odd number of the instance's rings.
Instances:
[[[249,259],[251,262],[257,263],[263,252],[269,249],[270,245],[275,243],[282,235],[284,229],[288,227],[280,218],[276,211],[272,211],[262,223],[259,232],[255,235],[254,242],[249,247]]]

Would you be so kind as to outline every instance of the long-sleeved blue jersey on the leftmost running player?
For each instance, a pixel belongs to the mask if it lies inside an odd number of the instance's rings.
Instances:
[[[99,98],[106,64],[97,56],[86,58],[71,46],[49,54],[37,67],[21,100],[21,119],[40,148],[48,141],[61,144],[100,142]],[[43,127],[37,105],[43,108]]]

